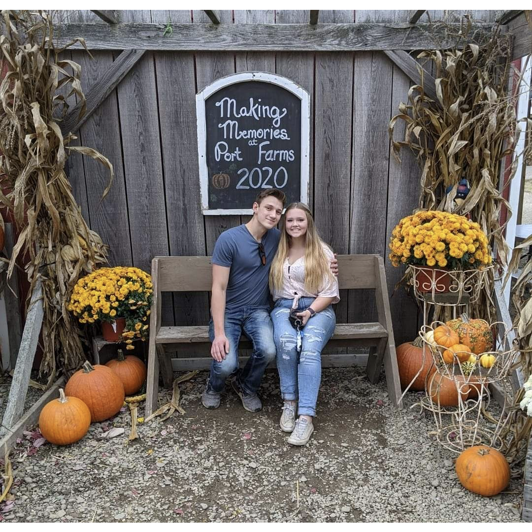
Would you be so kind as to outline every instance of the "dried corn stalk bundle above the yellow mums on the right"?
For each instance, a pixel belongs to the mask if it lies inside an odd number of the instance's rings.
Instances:
[[[511,40],[495,29],[491,36],[480,34],[476,44],[467,43],[469,31],[469,18],[464,17],[461,36],[457,36],[460,46],[418,54],[418,59],[434,65],[437,100],[426,95],[422,78],[421,85],[410,88],[408,104],[401,103],[388,129],[396,159],[401,162],[400,150],[408,147],[420,163],[419,209],[470,213],[492,248],[499,250],[505,268],[509,248],[499,219],[501,207],[505,205],[510,212],[510,206],[498,182],[501,163],[513,153],[517,128],[518,95],[507,91]],[[399,141],[393,135],[400,122],[405,124],[405,133]],[[510,178],[516,169],[514,159]],[[465,200],[455,201],[463,178],[469,181],[470,192]],[[448,187],[452,189],[446,194]],[[493,275],[489,274],[488,286],[471,308],[475,317],[489,323],[496,321]],[[441,312],[438,318],[445,319]]]

